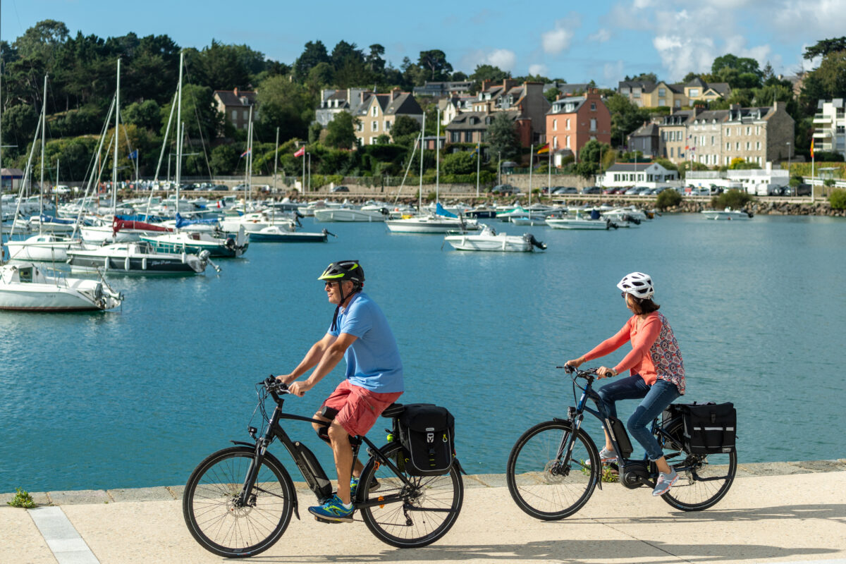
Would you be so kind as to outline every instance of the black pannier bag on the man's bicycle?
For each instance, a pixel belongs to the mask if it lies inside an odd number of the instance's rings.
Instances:
[[[412,476],[440,476],[453,468],[455,419],[447,408],[410,403],[398,418],[405,471]]]

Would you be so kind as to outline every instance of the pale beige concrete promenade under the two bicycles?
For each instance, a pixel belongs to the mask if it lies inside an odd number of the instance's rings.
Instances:
[[[585,508],[558,522],[537,521],[508,495],[503,475],[464,479],[464,507],[434,545],[399,550],[364,523],[327,525],[305,507],[301,521],[251,561],[312,562],[799,562],[846,563],[846,459],[741,464],[728,496],[704,512],[678,512],[645,488],[596,490]],[[0,562],[206,563],[182,518],[180,487],[34,494],[32,510],[0,495]],[[47,505],[51,504],[51,505]]]

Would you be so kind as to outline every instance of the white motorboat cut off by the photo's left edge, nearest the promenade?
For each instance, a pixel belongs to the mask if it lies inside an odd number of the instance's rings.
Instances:
[[[0,266],[0,309],[96,311],[116,308],[123,299],[104,280],[49,277],[32,263]]]

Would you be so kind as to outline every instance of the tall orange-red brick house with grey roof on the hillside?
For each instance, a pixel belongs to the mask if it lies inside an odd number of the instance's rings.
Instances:
[[[569,149],[578,156],[590,140],[611,144],[611,112],[596,88],[585,96],[569,96],[552,102],[547,112],[547,142],[552,150]]]

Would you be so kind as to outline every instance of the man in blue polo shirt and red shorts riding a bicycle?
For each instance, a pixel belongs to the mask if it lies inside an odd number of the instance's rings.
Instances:
[[[332,326],[292,372],[277,379],[290,384],[289,391],[302,397],[342,358],[347,361],[344,381],[314,416],[332,422],[328,427],[314,427],[332,446],[338,493],[321,506],[309,507],[309,512],[323,520],[349,523],[353,520],[352,496],[363,469],[359,460],[353,460],[349,438],[365,435],[382,411],[404,392],[403,363],[382,309],[362,291],[365,275],[357,260],[333,262],[318,280],[324,282],[329,302],[336,304]],[[311,368],[315,370],[305,381],[296,381]]]

